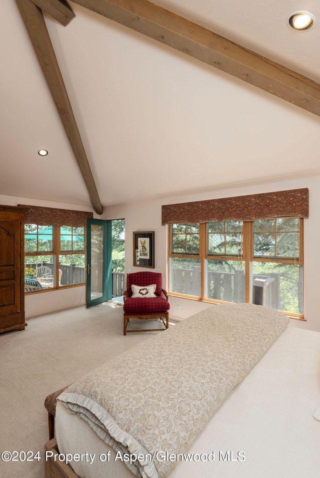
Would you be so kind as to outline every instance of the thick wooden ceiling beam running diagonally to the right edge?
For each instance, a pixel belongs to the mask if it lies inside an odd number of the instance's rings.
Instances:
[[[147,0],[72,0],[320,116],[320,85]]]

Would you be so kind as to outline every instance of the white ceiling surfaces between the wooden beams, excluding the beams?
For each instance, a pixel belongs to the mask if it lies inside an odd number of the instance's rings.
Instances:
[[[315,0],[153,3],[320,83]],[[45,21],[103,206],[320,175],[320,117],[69,5],[66,27]],[[286,25],[300,9],[308,32]],[[0,194],[89,206],[18,8],[0,12]]]

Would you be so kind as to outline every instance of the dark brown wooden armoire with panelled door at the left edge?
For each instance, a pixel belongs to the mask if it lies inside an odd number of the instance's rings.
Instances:
[[[0,205],[0,332],[23,330],[24,213],[26,209]]]

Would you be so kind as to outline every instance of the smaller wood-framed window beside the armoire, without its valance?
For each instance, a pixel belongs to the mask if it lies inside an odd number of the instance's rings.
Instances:
[[[41,289],[85,282],[84,227],[26,223],[24,276]]]

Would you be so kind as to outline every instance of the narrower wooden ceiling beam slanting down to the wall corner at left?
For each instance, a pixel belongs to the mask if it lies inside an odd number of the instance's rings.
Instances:
[[[102,214],[102,205],[42,12],[30,0],[16,0],[16,3],[74,152],[92,206],[97,214]]]

